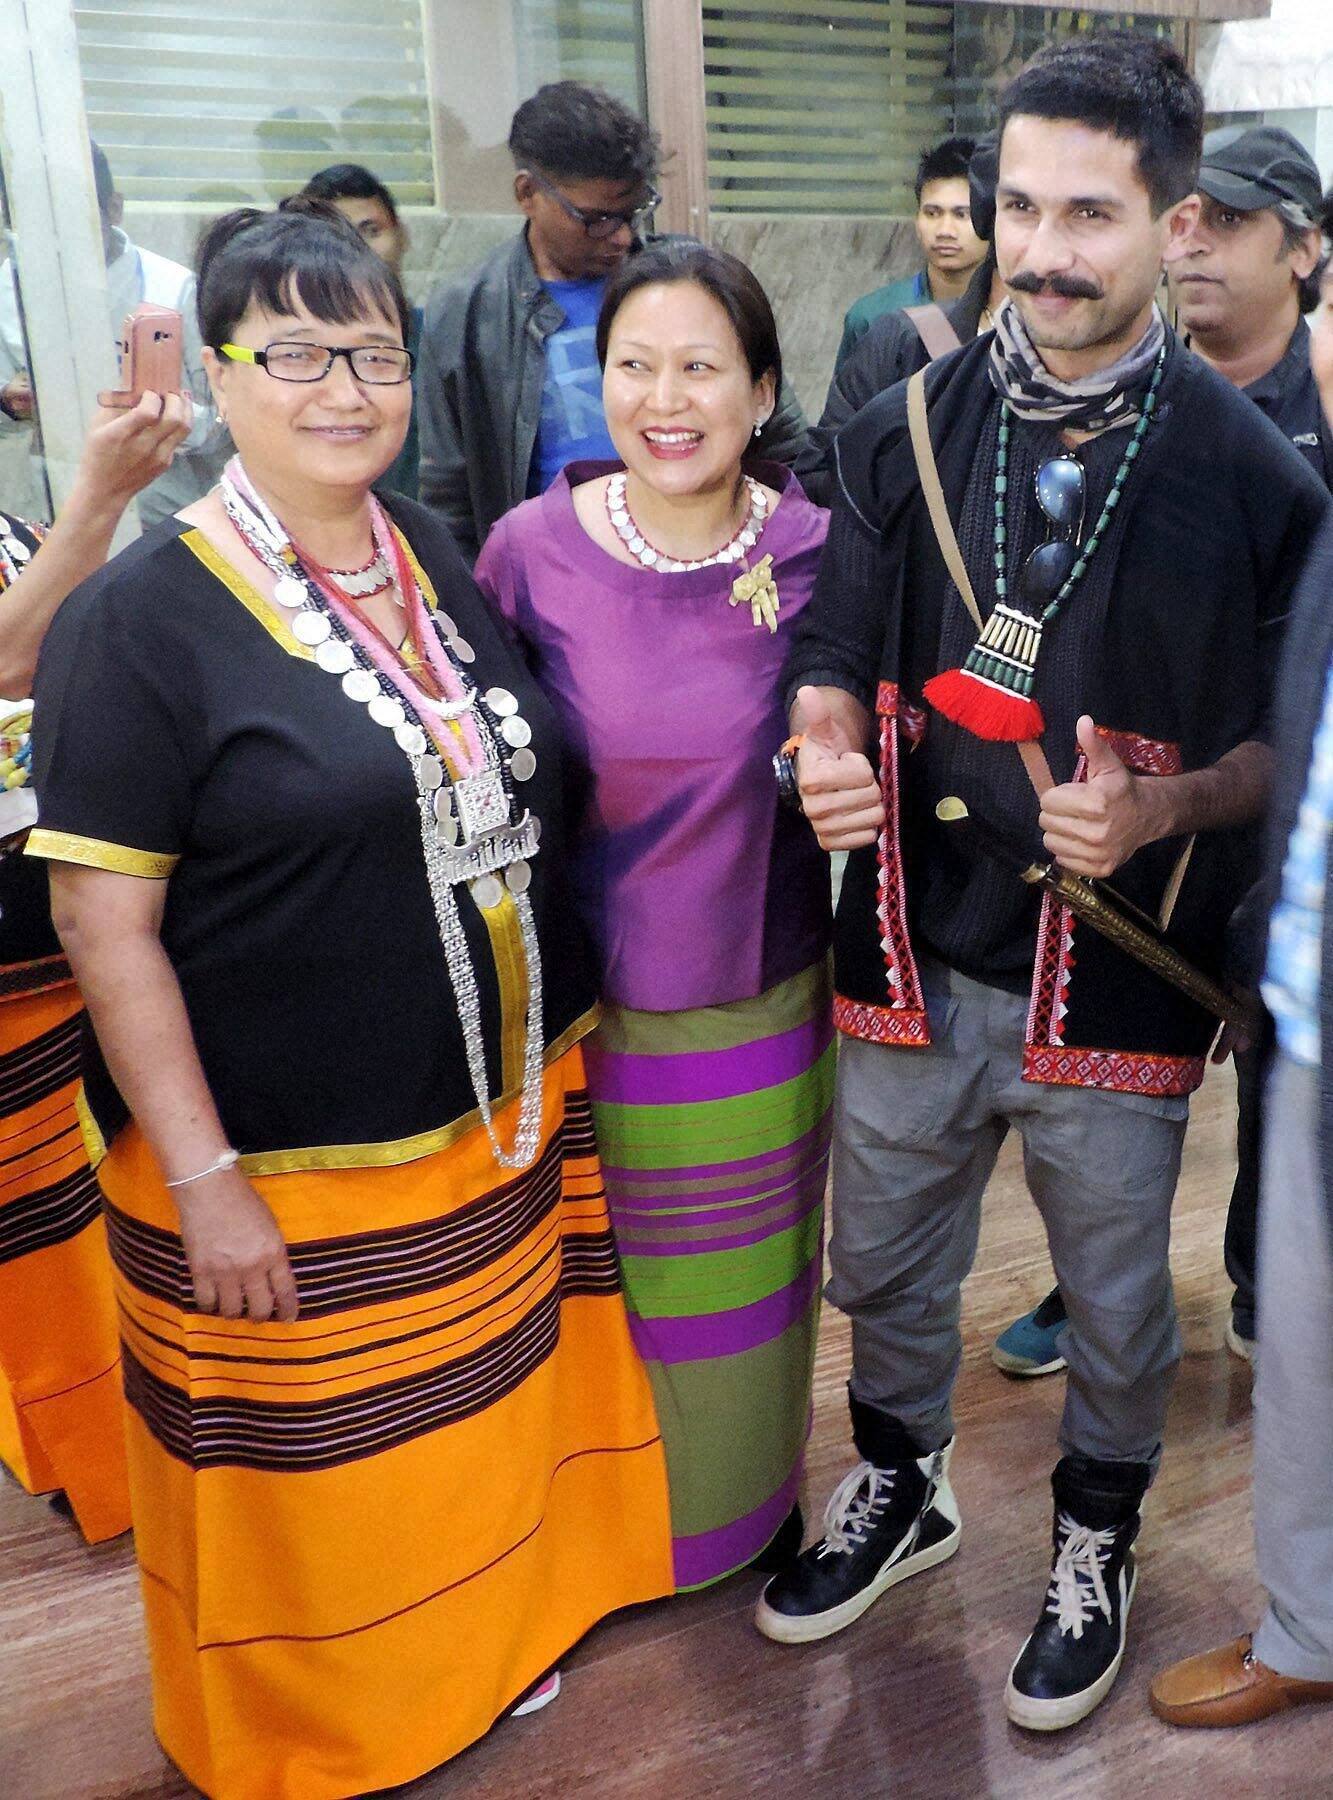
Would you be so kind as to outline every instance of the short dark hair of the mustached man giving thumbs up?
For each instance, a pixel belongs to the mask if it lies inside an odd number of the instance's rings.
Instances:
[[[1101,31],[1045,45],[1000,95],[1000,140],[1018,115],[1070,119],[1135,144],[1155,218],[1194,191],[1203,94],[1162,38]]]

